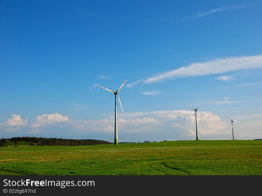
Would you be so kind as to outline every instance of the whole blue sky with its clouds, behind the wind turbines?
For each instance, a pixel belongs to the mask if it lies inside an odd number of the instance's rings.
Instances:
[[[262,1],[0,1],[0,137],[262,138]]]

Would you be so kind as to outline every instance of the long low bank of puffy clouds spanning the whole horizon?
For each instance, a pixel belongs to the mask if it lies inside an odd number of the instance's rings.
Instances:
[[[229,98],[225,97],[224,99]],[[200,122],[197,121],[199,139],[232,139],[231,122],[228,118],[225,117],[226,121],[224,122],[216,114],[201,111],[199,112],[199,117]],[[12,119],[13,121],[11,121]],[[255,139],[260,137],[261,114],[235,116],[234,119],[238,120],[234,125],[235,138],[252,139],[253,137]],[[77,135],[83,137],[88,134],[92,135],[92,137],[96,136],[93,138],[97,139],[101,139],[103,136],[111,138],[114,133],[113,114],[100,120],[79,121],[70,120],[68,116],[59,113],[43,114],[36,117],[31,131],[23,128],[23,126],[27,125],[26,122],[27,120],[19,120],[19,116],[16,115],[6,120],[5,126],[0,124],[0,131],[8,133],[10,136],[11,131],[16,131],[21,127],[19,131],[21,133],[45,133],[47,134],[46,137],[65,137],[65,131],[70,130],[70,132],[72,131],[71,134],[74,135],[73,137]],[[159,141],[164,139],[195,139],[195,123],[195,116],[192,115],[190,109],[121,114],[118,118],[118,133],[120,134],[118,136],[121,136],[121,139],[126,137],[125,140],[127,141],[134,138],[135,140],[141,139],[142,136],[143,138],[145,137],[144,140],[152,138],[154,140],[159,139]],[[132,137],[132,139],[129,137]]]

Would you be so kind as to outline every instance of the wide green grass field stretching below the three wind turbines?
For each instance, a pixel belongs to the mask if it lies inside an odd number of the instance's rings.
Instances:
[[[0,148],[0,175],[262,175],[262,141]]]

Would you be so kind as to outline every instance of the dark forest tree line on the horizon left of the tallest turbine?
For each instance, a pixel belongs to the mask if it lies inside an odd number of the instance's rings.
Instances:
[[[1,147],[21,146],[21,145],[38,145],[38,146],[80,146],[80,145],[97,145],[111,144],[111,142],[98,139],[63,139],[63,138],[45,138],[45,137],[12,137],[0,139]]]

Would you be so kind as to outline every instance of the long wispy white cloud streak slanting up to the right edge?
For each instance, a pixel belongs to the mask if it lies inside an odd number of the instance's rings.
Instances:
[[[251,68],[262,68],[262,55],[227,57],[207,62],[191,63],[187,67],[181,67],[164,73],[159,73],[156,76],[146,79],[144,83],[149,84],[163,81],[165,79],[219,74]]]

